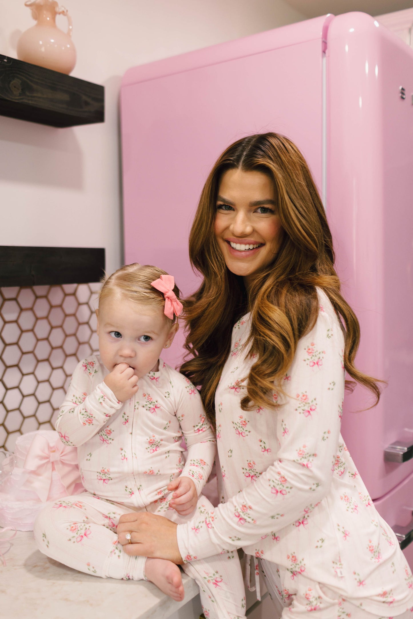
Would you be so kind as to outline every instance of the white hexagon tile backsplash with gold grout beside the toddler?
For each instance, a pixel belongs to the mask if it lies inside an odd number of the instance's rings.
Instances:
[[[100,284],[0,288],[0,447],[54,429],[78,361],[98,350]]]

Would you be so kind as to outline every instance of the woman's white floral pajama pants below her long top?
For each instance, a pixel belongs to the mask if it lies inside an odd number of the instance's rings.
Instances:
[[[297,594],[291,596],[292,600],[285,600],[283,603],[279,595],[282,585],[276,563],[261,559],[258,561],[261,564],[261,574],[263,574],[267,590],[276,607],[275,617],[303,619],[303,617],[308,617],[308,612],[311,611],[312,619],[379,619],[379,615],[373,615],[355,606],[328,587],[305,576],[300,581]],[[380,619],[390,618],[386,615]],[[401,615],[395,614],[394,619],[413,619],[413,607]]]

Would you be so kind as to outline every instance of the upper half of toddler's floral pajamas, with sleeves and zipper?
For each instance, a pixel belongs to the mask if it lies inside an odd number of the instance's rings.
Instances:
[[[216,441],[193,384],[159,360],[159,371],[140,378],[135,396],[122,403],[103,382],[107,374],[98,356],[80,361],[56,421],[63,443],[78,448],[86,490],[135,508],[168,509],[167,485],[184,475],[200,494]]]

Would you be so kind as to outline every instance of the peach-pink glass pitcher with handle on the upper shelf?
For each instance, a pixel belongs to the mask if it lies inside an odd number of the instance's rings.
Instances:
[[[72,19],[56,0],[27,0],[37,24],[28,28],[17,41],[17,58],[38,64],[53,71],[69,74],[76,64],[76,50],[72,43]],[[67,17],[68,29],[56,26],[56,15]]]

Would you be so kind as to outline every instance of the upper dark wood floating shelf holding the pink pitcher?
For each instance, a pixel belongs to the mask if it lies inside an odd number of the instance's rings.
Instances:
[[[0,115],[72,127],[105,121],[105,89],[35,64],[0,56]]]

